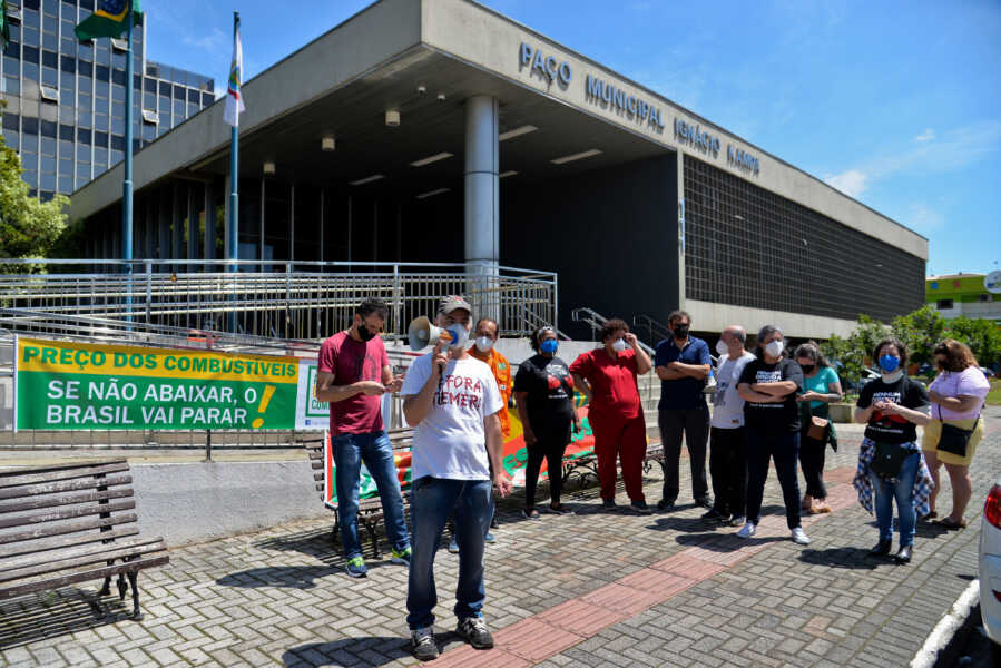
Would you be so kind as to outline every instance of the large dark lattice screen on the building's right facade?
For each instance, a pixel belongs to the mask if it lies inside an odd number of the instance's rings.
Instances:
[[[925,303],[920,257],[688,156],[684,183],[689,299],[852,321]]]

